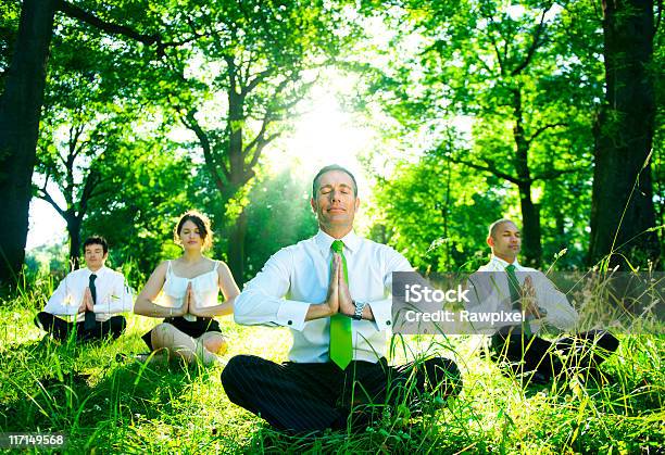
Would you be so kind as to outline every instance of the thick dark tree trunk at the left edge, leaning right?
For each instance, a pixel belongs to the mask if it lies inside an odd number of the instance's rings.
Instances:
[[[25,257],[54,3],[23,1],[14,55],[0,98],[0,285],[15,280]]]

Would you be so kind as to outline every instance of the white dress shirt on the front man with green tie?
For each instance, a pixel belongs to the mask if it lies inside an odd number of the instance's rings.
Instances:
[[[291,362],[329,361],[330,318],[304,319],[310,304],[326,301],[334,240],[319,230],[308,240],[279,250],[236,299],[236,323],[291,329]],[[386,354],[386,329],[392,324],[392,273],[412,271],[413,267],[390,247],[360,238],[353,231],[340,240],[344,243],[351,298],[367,302],[375,319],[351,321],[353,358],[377,362]]]

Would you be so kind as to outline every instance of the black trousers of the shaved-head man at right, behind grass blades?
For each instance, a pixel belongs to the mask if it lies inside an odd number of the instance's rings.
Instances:
[[[618,344],[618,340],[604,330],[580,332],[554,342],[511,332],[499,332],[491,339],[494,361],[510,363],[514,374],[537,371],[545,380],[559,376],[564,369],[594,372]]]

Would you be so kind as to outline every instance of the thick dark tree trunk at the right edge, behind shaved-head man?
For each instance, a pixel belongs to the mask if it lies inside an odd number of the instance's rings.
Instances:
[[[603,2],[605,103],[594,125],[595,166],[589,264],[607,254],[633,265],[660,256],[651,163],[655,97],[649,67],[653,56],[653,1]],[[636,185],[637,182],[637,185]],[[635,190],[633,190],[635,186]],[[610,265],[624,263],[615,254]],[[625,265],[625,263],[624,263]]]

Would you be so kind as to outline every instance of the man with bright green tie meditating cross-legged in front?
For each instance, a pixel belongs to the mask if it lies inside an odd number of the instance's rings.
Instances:
[[[414,403],[425,391],[459,393],[460,372],[450,359],[387,364],[392,273],[413,268],[391,248],[353,232],[360,204],[353,175],[326,166],[312,194],[318,233],[273,255],[234,305],[238,324],[290,328],[290,362],[233,357],[222,372],[229,400],[279,430],[309,432],[347,428],[352,413],[353,427],[366,425],[372,416],[357,410],[362,405]]]

